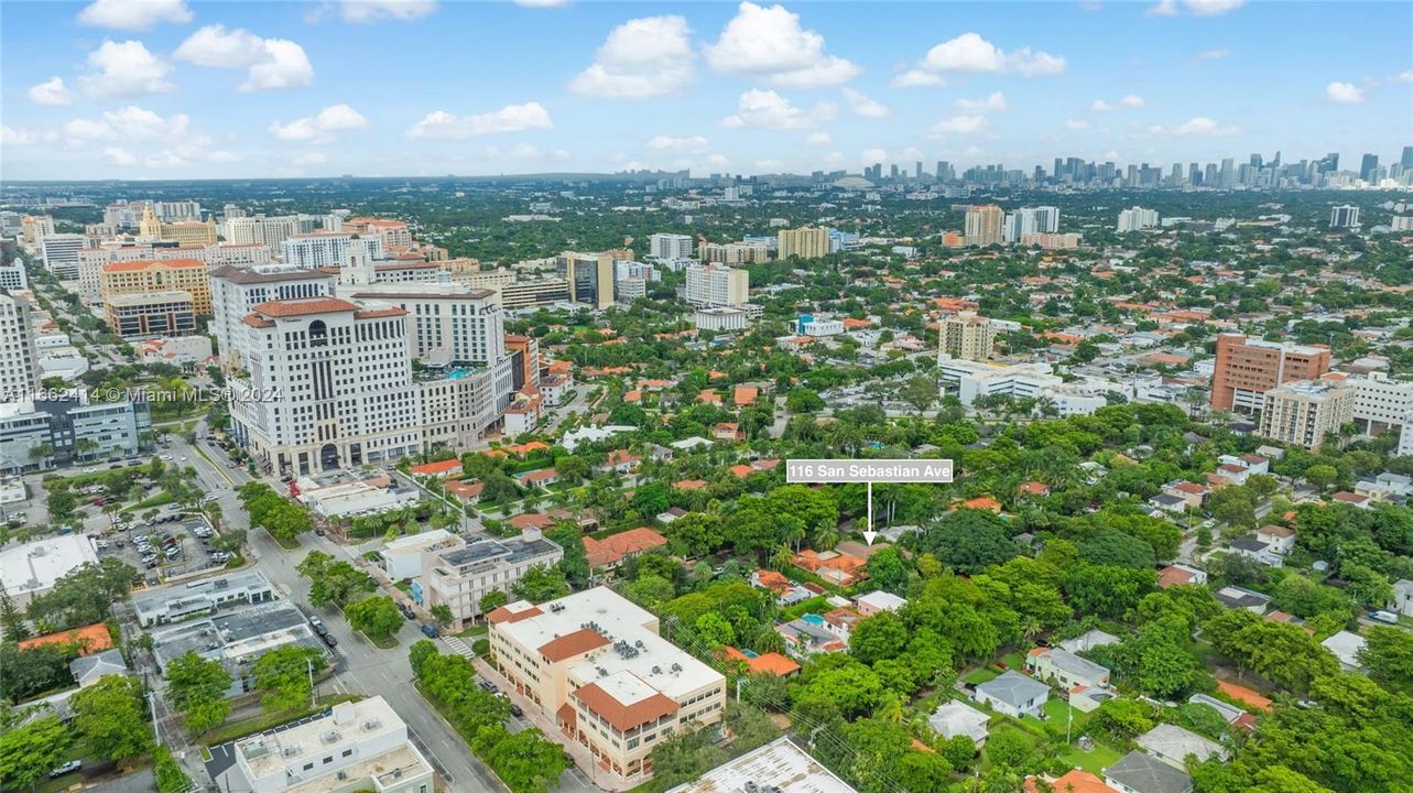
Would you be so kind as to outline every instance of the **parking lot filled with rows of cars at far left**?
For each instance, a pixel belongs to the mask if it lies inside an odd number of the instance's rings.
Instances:
[[[151,520],[116,522],[95,533],[99,557],[119,557],[147,581],[225,567],[229,557],[211,548],[216,537],[199,515],[161,510]]]

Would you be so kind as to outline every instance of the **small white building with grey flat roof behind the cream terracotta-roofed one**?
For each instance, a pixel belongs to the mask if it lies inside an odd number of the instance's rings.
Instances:
[[[452,536],[424,547],[421,556],[421,577],[413,594],[421,595],[425,608],[449,606],[459,630],[482,616],[482,598],[496,589],[509,595],[527,570],[557,564],[564,548],[545,540],[538,529],[526,529],[509,540]]]

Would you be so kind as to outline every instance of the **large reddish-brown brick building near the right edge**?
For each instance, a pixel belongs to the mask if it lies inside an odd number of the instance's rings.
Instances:
[[[1255,413],[1265,393],[1291,380],[1318,380],[1330,370],[1330,348],[1248,339],[1239,334],[1217,336],[1212,372],[1212,410]]]

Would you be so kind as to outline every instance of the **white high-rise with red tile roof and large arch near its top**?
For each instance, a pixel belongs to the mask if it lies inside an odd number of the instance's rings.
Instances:
[[[230,351],[232,433],[281,474],[391,462],[421,450],[407,312],[332,297],[261,302]],[[260,399],[256,399],[260,397]]]

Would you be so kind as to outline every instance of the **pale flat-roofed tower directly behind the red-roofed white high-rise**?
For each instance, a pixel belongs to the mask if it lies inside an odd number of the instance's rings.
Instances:
[[[233,338],[250,311],[261,302],[328,297],[335,277],[317,270],[260,264],[254,267],[222,266],[211,271],[211,332],[222,366],[236,372],[244,366]]]

